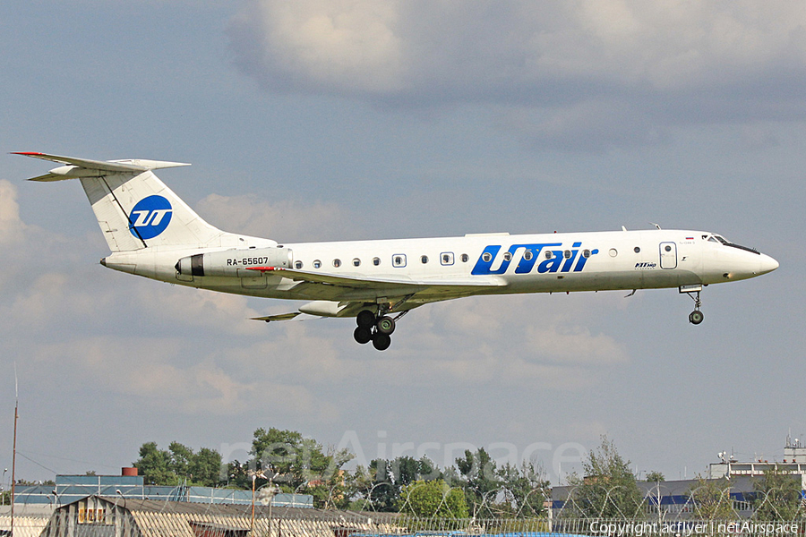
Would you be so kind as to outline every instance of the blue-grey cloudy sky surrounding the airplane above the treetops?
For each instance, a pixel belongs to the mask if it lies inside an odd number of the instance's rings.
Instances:
[[[0,466],[118,473],[142,443],[244,461],[298,430],[355,464],[467,447],[553,482],[602,436],[639,473],[806,439],[806,4],[748,0],[0,3]],[[298,303],[99,265],[76,182],[10,155],[192,163],[201,217],[280,243],[652,227],[775,272],[675,289],[467,298],[388,351]],[[800,267],[800,268],[799,268]],[[2,484],[8,486],[8,473]]]

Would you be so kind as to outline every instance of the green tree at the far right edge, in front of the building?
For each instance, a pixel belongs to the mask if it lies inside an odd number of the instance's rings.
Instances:
[[[804,515],[801,508],[801,476],[786,473],[777,466],[753,480],[752,506],[757,520],[789,521]]]

